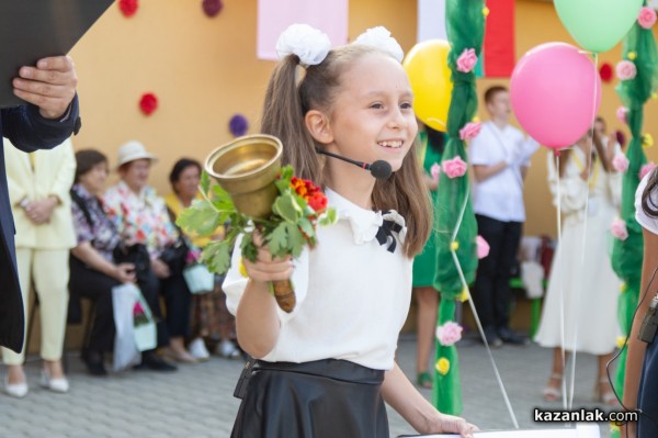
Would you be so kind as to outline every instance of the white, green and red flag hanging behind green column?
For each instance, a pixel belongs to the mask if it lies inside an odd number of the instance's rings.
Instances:
[[[489,14],[478,77],[509,78],[514,69],[514,0],[486,0]],[[447,40],[445,0],[418,0],[418,43]]]

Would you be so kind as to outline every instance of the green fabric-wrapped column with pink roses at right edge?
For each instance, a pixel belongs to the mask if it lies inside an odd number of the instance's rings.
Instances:
[[[656,98],[658,89],[656,40],[650,25],[648,27],[643,26],[643,24],[646,24],[642,20],[643,13],[650,13],[647,9],[647,2],[645,1],[645,9],[640,12],[640,19],[633,25],[624,41],[623,60],[617,64],[617,76],[622,80],[616,87],[616,92],[625,105],[625,108],[619,110],[617,115],[624,117],[632,136],[626,150],[628,168],[623,176],[621,209],[621,220],[626,225],[628,237],[625,239],[615,238],[612,250],[612,267],[624,281],[619,296],[619,319],[624,336],[627,336],[631,332],[633,313],[640,293],[644,250],[642,227],[635,221],[635,191],[639,184],[643,167],[647,162],[644,147],[651,146],[654,143],[649,134],[643,135],[642,132],[643,106],[649,98]],[[629,74],[619,75],[620,69]],[[620,346],[623,345],[623,340],[621,339]],[[627,349],[622,351],[614,378],[614,386],[620,394],[623,393],[626,351]],[[612,436],[619,437],[619,429],[613,427]]]

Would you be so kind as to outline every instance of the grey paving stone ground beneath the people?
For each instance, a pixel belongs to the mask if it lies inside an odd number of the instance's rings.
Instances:
[[[415,379],[416,338],[404,335],[398,362]],[[513,428],[491,362],[484,346],[472,336],[458,344],[464,413],[481,429]],[[503,346],[494,358],[521,428],[545,427],[533,422],[533,408],[560,408],[542,401],[552,352],[536,345]],[[198,364],[180,366],[174,373],[127,371],[107,378],[84,372],[79,356],[67,352],[71,390],[55,394],[38,388],[39,362],[30,358],[26,372],[30,393],[23,400],[0,394],[0,437],[228,437],[238,409],[232,397],[242,362],[213,357]],[[5,368],[0,367],[4,379]],[[592,402],[595,358],[577,357],[575,407],[601,407]],[[431,397],[430,390],[421,390]],[[392,437],[413,434],[389,409]],[[601,425],[601,437],[609,427]]]

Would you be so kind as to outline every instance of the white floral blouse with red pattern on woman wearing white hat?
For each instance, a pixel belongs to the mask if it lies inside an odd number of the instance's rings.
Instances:
[[[107,215],[116,225],[122,240],[146,245],[152,258],[178,238],[164,201],[152,188],[147,187],[136,194],[120,181],[107,189],[103,199]]]

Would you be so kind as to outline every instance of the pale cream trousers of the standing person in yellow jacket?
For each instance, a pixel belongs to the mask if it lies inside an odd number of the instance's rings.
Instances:
[[[42,329],[41,357],[49,361],[61,359],[64,350],[64,334],[66,330],[69,296],[68,260],[68,249],[16,248],[25,327],[30,324],[27,321],[27,305],[33,280],[39,302],[38,314],[41,315]],[[9,366],[23,364],[26,348],[26,346],[23,346],[23,351],[20,355],[10,349],[2,348],[2,361]]]

